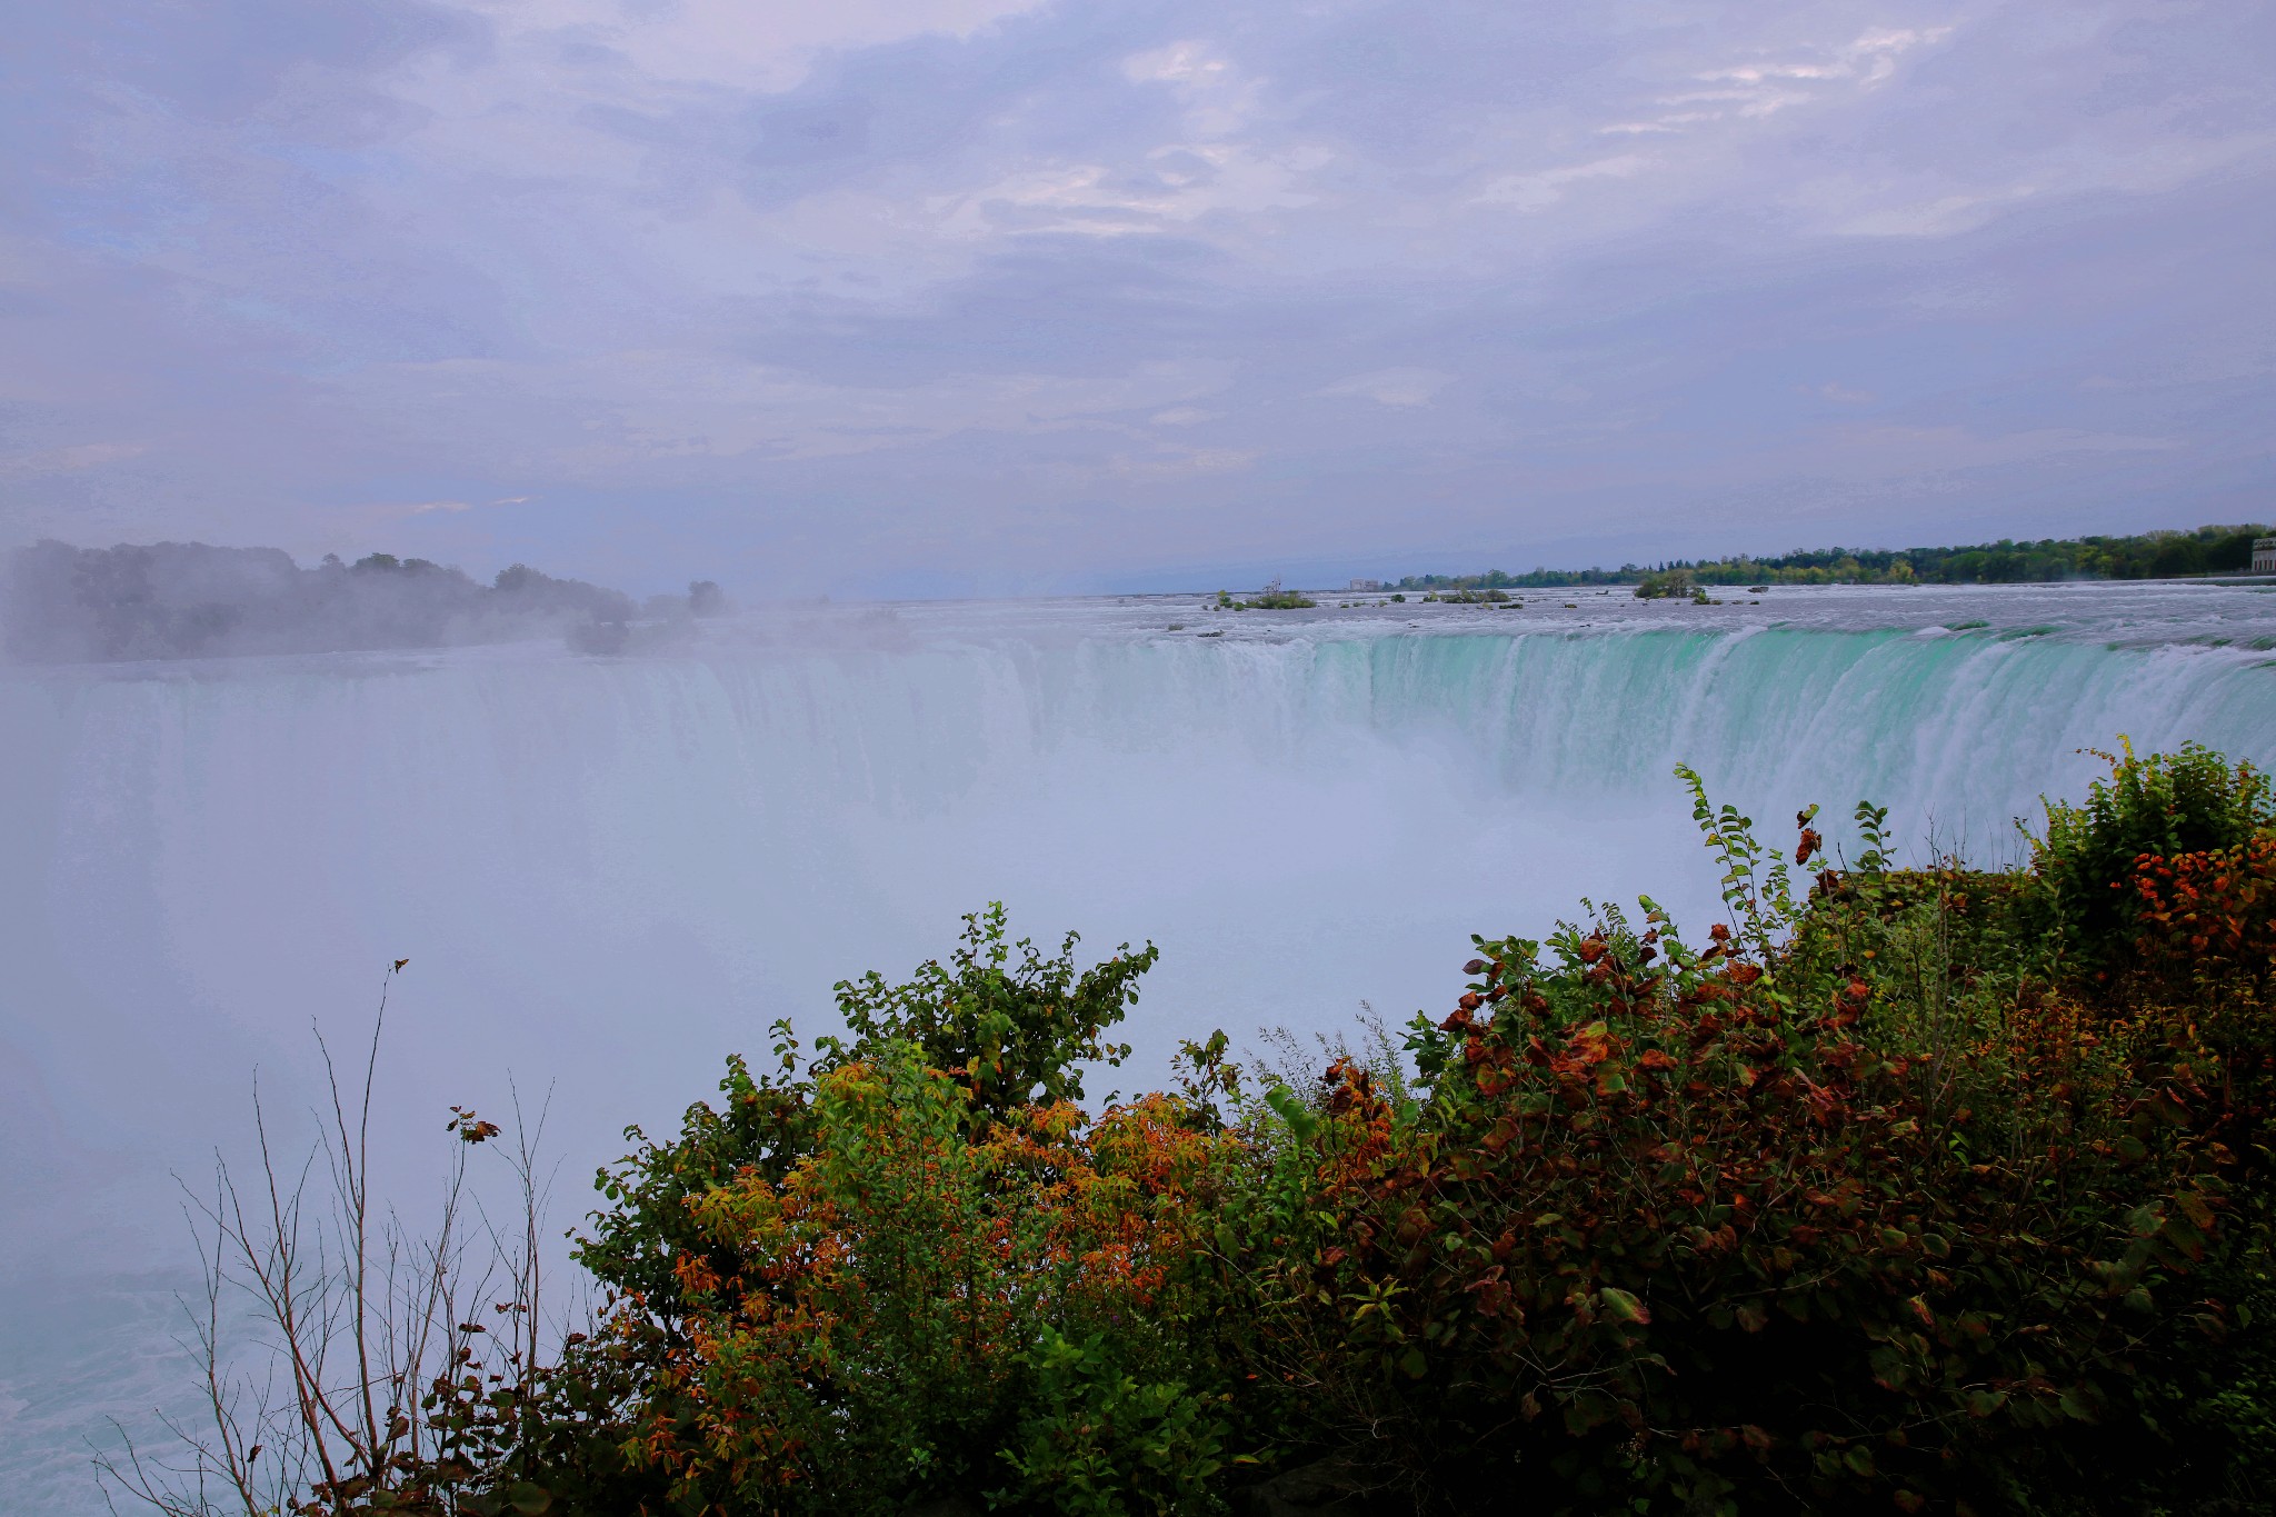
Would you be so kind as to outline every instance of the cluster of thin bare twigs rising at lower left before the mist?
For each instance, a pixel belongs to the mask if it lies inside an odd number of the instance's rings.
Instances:
[[[316,1033],[328,1112],[298,1162],[271,1137],[255,1087],[253,1133],[259,1178],[253,1194],[216,1160],[214,1192],[187,1192],[196,1224],[203,1296],[184,1301],[182,1340],[203,1376],[207,1426],[159,1417],[166,1449],[150,1451],[116,1426],[116,1449],[98,1451],[105,1499],[123,1497],[164,1517],[325,1517],[369,1510],[373,1497],[426,1483],[480,1483],[473,1467],[444,1467],[453,1385],[487,1374],[521,1385],[542,1362],[539,1237],[551,1174],[539,1149],[549,1103],[528,1121],[514,1092],[514,1142],[501,1144],[519,1215],[494,1219],[469,1192],[469,1149],[498,1137],[496,1124],[451,1108],[455,1144],[432,1228],[414,1235],[371,1189],[371,1119],[387,989],[364,1051],[362,1083],[341,1080],[332,1048]],[[312,1178],[328,1194],[310,1192]],[[480,1242],[462,1226],[476,1205]],[[476,1317],[494,1294],[510,1328],[489,1333]],[[255,1324],[248,1349],[232,1344],[232,1299]],[[562,1324],[567,1331],[567,1324]]]

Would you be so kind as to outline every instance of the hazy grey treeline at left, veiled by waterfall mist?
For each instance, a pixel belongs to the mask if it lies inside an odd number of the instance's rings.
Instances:
[[[442,648],[567,635],[624,644],[633,600],[526,564],[480,585],[391,553],[300,569],[280,548],[41,541],[9,555],[0,637],[23,662]],[[717,598],[717,587],[710,587]]]

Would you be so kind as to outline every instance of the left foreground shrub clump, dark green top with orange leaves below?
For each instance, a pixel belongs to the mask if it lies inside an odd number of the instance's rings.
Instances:
[[[733,1060],[717,1105],[605,1171],[580,1258],[610,1310],[523,1387],[478,1499],[1220,1510],[1238,1139],[1184,1096],[1077,1105],[1154,951],[1072,948],[967,919],[949,967],[840,985],[844,1039],[801,1064],[778,1028],[778,1071]]]

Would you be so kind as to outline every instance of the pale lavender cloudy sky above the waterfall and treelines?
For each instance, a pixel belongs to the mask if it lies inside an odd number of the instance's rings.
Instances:
[[[0,7],[0,544],[1008,594],[2276,516],[2258,0]]]

